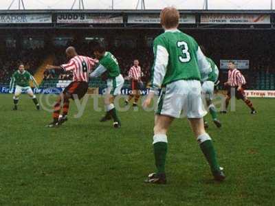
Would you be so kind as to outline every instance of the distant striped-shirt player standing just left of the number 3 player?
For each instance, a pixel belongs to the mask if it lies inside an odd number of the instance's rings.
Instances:
[[[136,59],[133,61],[133,67],[129,70],[128,79],[131,80],[132,93],[129,95],[128,100],[125,100],[125,105],[135,97],[133,106],[137,106],[137,101],[140,99],[140,89],[142,89],[142,69],[140,68],[140,62]]]

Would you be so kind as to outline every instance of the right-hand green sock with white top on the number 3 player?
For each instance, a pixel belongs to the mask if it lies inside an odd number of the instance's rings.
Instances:
[[[216,151],[214,150],[212,139],[207,133],[205,133],[203,135],[199,135],[197,141],[199,142],[199,146],[201,148],[201,151],[203,152],[203,155],[206,157],[206,160],[210,165],[212,173],[219,171]]]

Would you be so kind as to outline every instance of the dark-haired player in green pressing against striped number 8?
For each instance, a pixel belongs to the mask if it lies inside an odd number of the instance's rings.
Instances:
[[[107,91],[104,97],[106,114],[102,117],[100,122],[106,122],[107,120],[113,119],[113,126],[115,128],[120,128],[121,122],[115,110],[115,105],[113,104],[115,96],[120,95],[124,84],[124,78],[120,74],[118,60],[111,52],[106,51],[102,43],[98,43],[98,45],[94,47],[94,55],[99,60],[99,63],[96,69],[90,74],[90,77],[96,78],[103,73],[107,73]]]

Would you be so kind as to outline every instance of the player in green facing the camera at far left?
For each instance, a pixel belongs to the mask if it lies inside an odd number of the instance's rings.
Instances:
[[[39,102],[37,101],[36,96],[32,92],[32,88],[30,87],[30,81],[34,82],[34,86],[36,88],[39,88],[32,74],[30,74],[30,72],[28,71],[25,71],[25,66],[23,64],[20,64],[19,69],[13,73],[12,79],[10,81],[10,93],[12,93],[15,86],[14,97],[13,97],[13,102],[14,102],[13,110],[17,110],[19,95],[21,95],[22,92],[28,93],[28,95],[30,96],[30,98],[32,98],[32,101],[36,105],[36,109],[37,110],[40,109]]]

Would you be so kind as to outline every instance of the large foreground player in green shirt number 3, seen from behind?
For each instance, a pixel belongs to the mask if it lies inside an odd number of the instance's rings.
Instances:
[[[173,119],[187,116],[199,146],[205,155],[214,179],[223,181],[225,175],[217,163],[212,139],[203,126],[206,111],[201,99],[201,80],[208,78],[210,64],[191,36],[177,30],[179,12],[164,8],[160,20],[165,32],[155,38],[155,62],[152,68],[152,87],[143,106],[151,104],[158,88],[162,92],[157,104],[153,149],[157,172],[149,174],[146,183],[166,183],[165,160],[167,152],[166,133]]]

